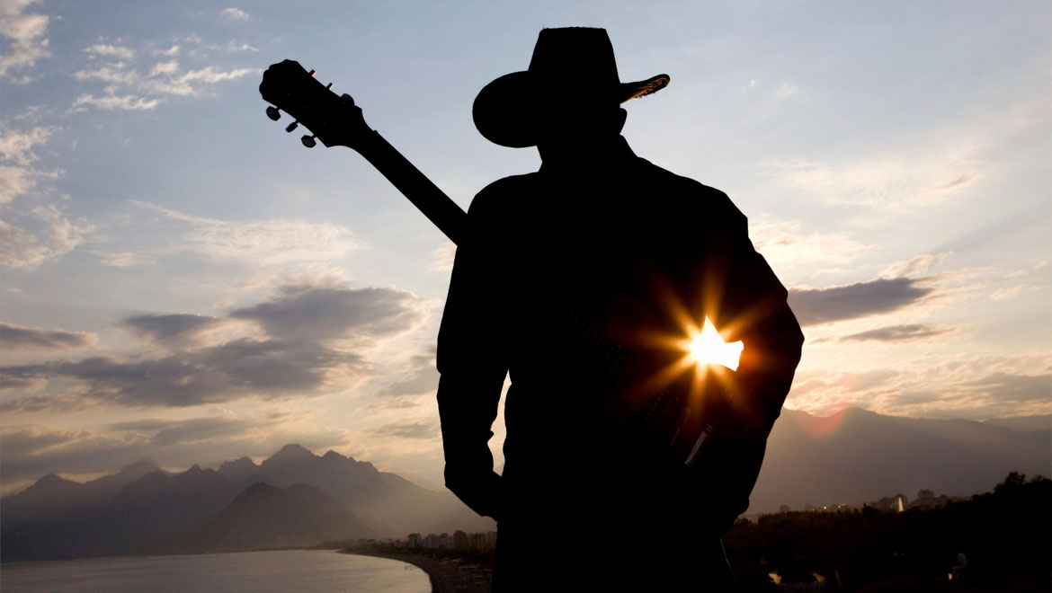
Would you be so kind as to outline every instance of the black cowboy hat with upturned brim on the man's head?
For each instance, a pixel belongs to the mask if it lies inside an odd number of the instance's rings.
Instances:
[[[529,68],[504,75],[487,84],[474,99],[474,126],[501,146],[524,148],[537,144],[539,96],[554,95],[586,105],[619,105],[656,93],[668,85],[668,75],[621,82],[613,45],[604,28],[545,28],[538,36]]]

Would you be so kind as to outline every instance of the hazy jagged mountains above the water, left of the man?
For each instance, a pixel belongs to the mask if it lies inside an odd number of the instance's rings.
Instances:
[[[411,531],[494,529],[446,492],[372,464],[286,445],[257,465],[165,472],[149,459],[79,484],[48,474],[0,500],[0,558],[312,546]]]

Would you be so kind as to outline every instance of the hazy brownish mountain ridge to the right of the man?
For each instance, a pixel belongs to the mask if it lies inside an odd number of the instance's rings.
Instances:
[[[969,496],[1010,471],[1052,473],[1052,416],[973,422],[785,409],[767,441],[748,512],[861,506],[922,489]]]

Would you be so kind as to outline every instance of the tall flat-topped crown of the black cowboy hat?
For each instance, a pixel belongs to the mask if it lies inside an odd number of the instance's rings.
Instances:
[[[570,87],[589,91],[609,91],[621,84],[613,44],[605,28],[545,28],[537,38],[530,59],[531,76],[544,82],[558,82],[560,94]]]

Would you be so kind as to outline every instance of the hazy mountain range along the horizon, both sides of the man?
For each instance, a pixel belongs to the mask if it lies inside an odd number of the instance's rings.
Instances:
[[[849,504],[929,489],[970,495],[1010,471],[1052,473],[1052,418],[997,423],[783,410],[750,513]],[[323,540],[488,531],[447,492],[368,462],[287,445],[256,464],[163,471],[149,461],[84,484],[55,474],[0,500],[0,558],[232,551]],[[611,517],[611,520],[616,520]],[[567,526],[572,530],[573,526]]]

